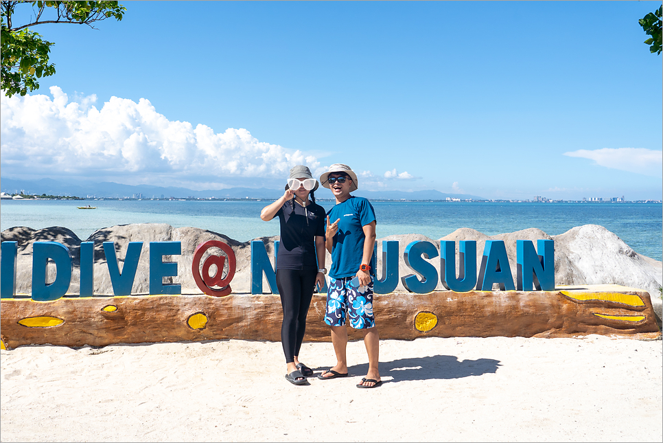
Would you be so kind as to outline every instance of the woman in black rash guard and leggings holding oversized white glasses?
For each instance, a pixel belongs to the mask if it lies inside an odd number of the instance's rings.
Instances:
[[[318,181],[306,166],[290,170],[286,192],[264,207],[260,218],[275,216],[281,222],[281,245],[277,255],[277,287],[283,306],[281,344],[286,354],[286,379],[303,385],[313,370],[299,363],[299,349],[304,339],[306,315],[313,291],[325,284],[325,209],[316,204],[314,191]],[[319,267],[318,267],[319,264]]]

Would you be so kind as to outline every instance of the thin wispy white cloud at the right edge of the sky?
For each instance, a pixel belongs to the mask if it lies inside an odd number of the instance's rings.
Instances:
[[[590,159],[598,166],[618,169],[636,174],[661,177],[663,151],[645,148],[603,148],[596,150],[576,150],[564,152],[568,157]]]

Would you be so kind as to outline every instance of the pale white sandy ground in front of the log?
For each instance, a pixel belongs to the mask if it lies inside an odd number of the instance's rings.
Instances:
[[[662,341],[382,341],[377,389],[285,378],[281,343],[209,341],[1,351],[10,441],[663,440]],[[331,343],[304,343],[316,374]]]

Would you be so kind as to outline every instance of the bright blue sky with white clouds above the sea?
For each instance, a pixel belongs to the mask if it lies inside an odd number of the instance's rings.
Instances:
[[[2,97],[3,177],[662,198],[660,2],[120,3],[34,28],[57,73]]]

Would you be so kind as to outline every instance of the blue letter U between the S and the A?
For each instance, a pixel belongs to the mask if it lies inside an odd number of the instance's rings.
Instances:
[[[440,242],[440,280],[457,293],[472,291],[476,285],[476,241],[463,240],[458,245],[458,278],[456,278],[456,242]]]

